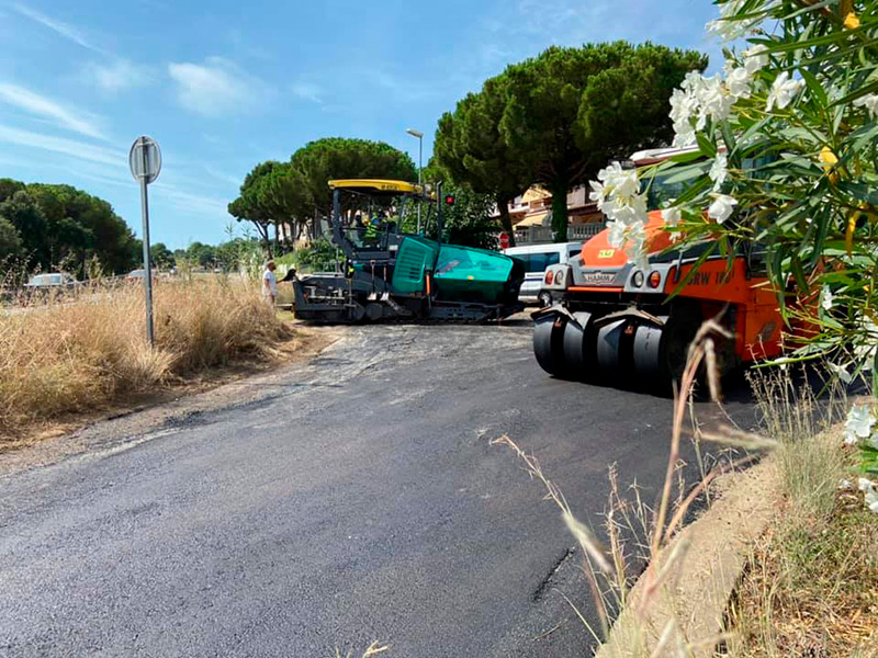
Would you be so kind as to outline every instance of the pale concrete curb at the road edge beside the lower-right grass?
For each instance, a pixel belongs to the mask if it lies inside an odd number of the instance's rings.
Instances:
[[[683,644],[688,649],[680,655],[714,655],[727,605],[750,548],[768,527],[779,500],[772,458],[718,481],[721,497],[658,553],[655,566],[661,570],[675,551],[686,549],[687,554],[668,568],[664,585],[645,605],[645,578],[638,580],[596,658],[651,656],[656,648],[662,650],[660,643],[668,653]],[[674,620],[678,633],[667,636]]]

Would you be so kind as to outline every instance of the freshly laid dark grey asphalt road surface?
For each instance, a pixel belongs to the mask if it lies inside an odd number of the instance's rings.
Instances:
[[[530,331],[353,328],[255,400],[0,478],[0,656],[590,655],[574,541],[489,441],[598,526],[609,464],[654,499],[671,404],[547,377]]]

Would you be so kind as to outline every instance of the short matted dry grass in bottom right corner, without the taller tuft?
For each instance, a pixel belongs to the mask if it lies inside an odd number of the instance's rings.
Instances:
[[[721,655],[878,656],[876,546],[878,521],[862,500],[779,524],[754,548]]]

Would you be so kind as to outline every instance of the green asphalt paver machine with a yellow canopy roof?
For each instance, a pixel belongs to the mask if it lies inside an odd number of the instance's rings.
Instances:
[[[442,241],[441,185],[436,193],[404,181],[336,180],[330,225],[336,271],[293,282],[303,320],[352,324],[382,319],[488,321],[521,309],[520,261]],[[439,202],[437,202],[439,200]],[[412,232],[420,206],[435,218]],[[428,211],[428,212],[424,212]]]

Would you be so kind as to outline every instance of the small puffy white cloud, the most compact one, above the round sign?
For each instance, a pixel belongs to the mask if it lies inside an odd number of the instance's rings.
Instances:
[[[204,116],[238,113],[269,95],[262,81],[222,57],[209,57],[204,64],[171,63],[168,72],[180,104]]]

